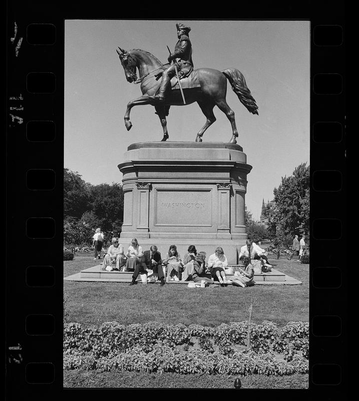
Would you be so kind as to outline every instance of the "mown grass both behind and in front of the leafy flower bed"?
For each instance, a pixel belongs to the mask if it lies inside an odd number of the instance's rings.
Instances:
[[[271,320],[278,326],[288,321],[309,320],[309,265],[289,262],[286,258],[269,259],[276,269],[300,280],[301,285],[257,285],[241,287],[208,287],[190,289],[184,284],[148,284],[64,281],[68,295],[68,322],[85,326],[107,321],[121,324],[158,321],[218,326],[221,323],[248,319],[248,306],[253,298],[252,321]],[[77,254],[64,262],[64,277],[94,266],[93,254]],[[234,388],[235,376],[145,373],[82,369],[64,371],[65,388]],[[308,388],[307,374],[241,377],[242,388]]]

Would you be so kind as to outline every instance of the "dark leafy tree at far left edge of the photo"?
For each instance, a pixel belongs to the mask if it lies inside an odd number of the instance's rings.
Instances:
[[[64,168],[64,216],[78,219],[89,209],[91,184],[85,182],[77,171]]]

